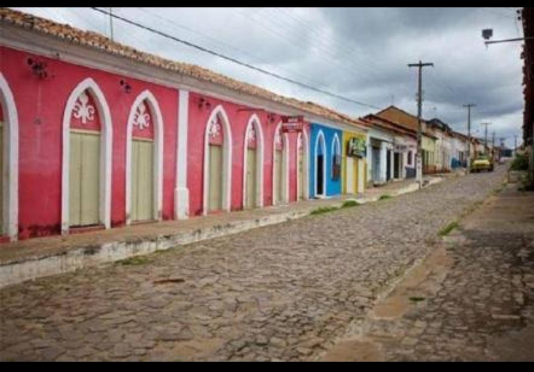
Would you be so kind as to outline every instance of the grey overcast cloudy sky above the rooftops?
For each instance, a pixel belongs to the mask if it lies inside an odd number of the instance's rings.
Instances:
[[[109,35],[109,18],[90,8],[14,8]],[[517,8],[113,8],[116,14],[279,75],[368,103],[417,114],[417,70],[423,70],[423,117],[467,132],[464,103],[476,103],[472,133],[521,141],[521,43]],[[376,109],[313,92],[179,44],[120,20],[114,38],[166,58],[199,64],[271,91],[314,101],[353,116]]]

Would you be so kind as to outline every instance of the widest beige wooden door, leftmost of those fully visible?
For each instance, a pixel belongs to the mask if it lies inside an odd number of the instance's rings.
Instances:
[[[69,223],[99,223],[100,133],[70,132]]]

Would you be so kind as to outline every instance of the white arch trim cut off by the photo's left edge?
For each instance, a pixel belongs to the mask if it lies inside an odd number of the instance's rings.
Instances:
[[[4,112],[2,179],[2,235],[17,240],[19,230],[19,119],[13,93],[0,72],[0,103]]]

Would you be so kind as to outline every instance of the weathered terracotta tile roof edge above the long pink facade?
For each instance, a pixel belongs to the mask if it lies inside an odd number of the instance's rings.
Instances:
[[[32,29],[42,34],[66,39],[74,44],[96,48],[105,53],[119,55],[151,66],[174,71],[181,75],[197,78],[205,82],[219,84],[234,91],[282,103],[288,107],[299,109],[308,112],[309,114],[330,120],[335,120],[336,122],[342,122],[348,125],[365,126],[365,124],[358,119],[351,118],[348,115],[341,114],[340,112],[321,106],[317,103],[303,102],[294,98],[288,98],[270,92],[264,88],[240,82],[239,80],[232,79],[222,74],[217,74],[214,71],[194,64],[172,61],[154,54],[138,51],[133,47],[113,42],[104,35],[93,31],[83,31],[70,25],[62,25],[61,23],[36,17],[32,14],[7,9],[5,7],[0,8],[0,20],[18,27]]]

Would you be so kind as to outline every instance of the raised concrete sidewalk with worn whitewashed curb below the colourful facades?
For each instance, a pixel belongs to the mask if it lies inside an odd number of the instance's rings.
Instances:
[[[442,180],[441,177],[425,177],[427,186]],[[401,181],[368,189],[357,197],[312,199],[182,221],[10,242],[0,247],[0,287],[299,219],[320,207],[339,207],[348,199],[363,204],[379,200],[382,195],[395,197],[417,190],[418,184],[413,180]]]

